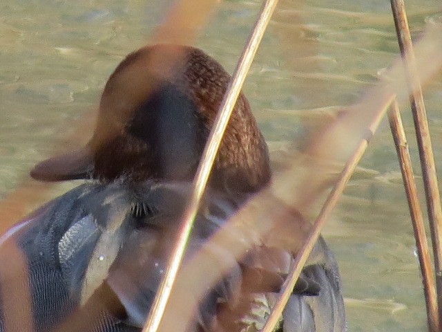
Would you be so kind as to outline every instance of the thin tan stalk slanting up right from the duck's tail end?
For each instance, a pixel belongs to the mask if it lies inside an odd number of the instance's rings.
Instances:
[[[388,104],[392,102],[393,98],[394,98],[393,96],[390,98]],[[293,291],[296,281],[298,280],[302,268],[304,267],[305,263],[307,262],[307,259],[309,258],[311,250],[313,250],[314,245],[318,240],[318,237],[320,236],[320,232],[323,229],[325,221],[329,218],[330,214],[332,213],[336,203],[338,202],[338,199],[340,198],[340,195],[343,193],[345,189],[345,185],[347,185],[347,182],[349,181],[349,178],[352,176],[354,169],[359,163],[359,160],[361,160],[365,152],[365,149],[367,149],[369,140],[374,135],[374,132],[378,128],[379,122],[381,122],[386,111],[387,111],[387,106],[384,107],[382,111],[376,114],[376,117],[373,118],[372,123],[369,124],[368,127],[369,137],[359,142],[353,155],[349,158],[347,163],[345,163],[345,167],[343,171],[340,173],[338,181],[336,181],[336,184],[334,185],[332,191],[327,196],[323,208],[321,209],[318,218],[314,222],[309,237],[303,244],[300,251],[296,254],[294,266],[291,268],[287,280],[285,281],[284,287],[281,289],[278,300],[273,306],[273,309],[269,316],[269,320],[267,320],[267,323],[262,329],[262,332],[272,332],[275,326],[278,324],[278,320],[282,315],[282,311],[284,310],[285,305],[289,300],[289,297]]]

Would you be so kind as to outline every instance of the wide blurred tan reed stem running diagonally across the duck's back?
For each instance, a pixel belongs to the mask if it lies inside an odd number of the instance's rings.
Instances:
[[[442,68],[440,33],[436,26],[430,27],[421,42],[416,44],[416,61],[421,68],[422,82],[430,80]],[[385,73],[390,80],[381,80],[373,89],[366,91],[360,103],[350,108],[351,111],[343,113],[312,142],[309,153],[325,160],[348,159],[348,156],[356,151],[358,143],[367,138],[367,124],[378,118],[393,96],[397,95],[400,102],[407,98],[407,86],[403,82],[401,71],[401,60],[398,60]],[[256,195],[216,232],[207,246],[228,247],[231,254],[240,259],[251,244],[259,241],[273,228],[278,218],[289,217],[287,207],[302,211],[305,207],[300,203],[314,203],[324,189],[320,186],[321,179],[328,179],[329,174],[325,174],[324,169],[308,162],[304,164],[305,171],[300,172],[302,160],[293,160],[293,164],[290,169],[274,178],[267,190]],[[311,185],[314,185],[316,190],[310,190]],[[306,193],[309,196],[307,199],[305,199]],[[232,232],[237,234],[243,232],[250,237],[244,237],[242,243],[231,243],[229,239]],[[183,331],[184,326],[191,320],[198,299],[204,296],[206,289],[213,286],[222,273],[227,272],[229,266],[216,266],[215,269],[211,261],[212,258],[204,252],[203,246],[203,250],[197,252],[180,268],[160,331]]]

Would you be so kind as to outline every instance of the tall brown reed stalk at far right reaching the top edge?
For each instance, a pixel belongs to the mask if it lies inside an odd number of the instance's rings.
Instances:
[[[423,185],[427,200],[428,218],[430,219],[430,231],[434,255],[434,269],[436,271],[437,304],[439,310],[439,325],[442,320],[442,210],[441,198],[437,182],[434,155],[428,129],[427,115],[419,73],[417,71],[410,29],[407,22],[407,14],[403,0],[391,0],[394,24],[398,35],[399,48],[403,57],[405,75],[409,86],[410,103],[416,129],[416,138],[419,147],[419,156],[423,174]]]

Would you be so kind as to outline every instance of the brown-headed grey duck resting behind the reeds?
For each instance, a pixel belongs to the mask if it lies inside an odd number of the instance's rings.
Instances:
[[[229,79],[215,59],[191,46],[146,46],[123,59],[104,87],[88,144],[30,172],[39,181],[85,183],[0,238],[0,331],[142,330]],[[270,181],[265,138],[240,93],[184,261]],[[233,234],[232,241],[249,236]],[[255,241],[241,259],[229,248],[209,248],[213,266],[228,261],[230,268],[183,331],[259,331],[298,245]],[[12,261],[17,255],[8,254],[15,248],[21,268]],[[28,329],[19,327],[26,320],[13,314],[1,291],[5,283],[9,293],[28,299]],[[338,265],[320,237],[278,331],[346,330]]]

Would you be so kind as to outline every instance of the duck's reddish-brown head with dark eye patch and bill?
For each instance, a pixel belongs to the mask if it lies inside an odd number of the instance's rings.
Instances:
[[[192,181],[229,79],[198,48],[141,48],[109,77],[88,144],[39,163],[30,175],[40,181]],[[255,192],[270,176],[267,145],[241,93],[209,185]]]

